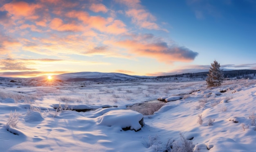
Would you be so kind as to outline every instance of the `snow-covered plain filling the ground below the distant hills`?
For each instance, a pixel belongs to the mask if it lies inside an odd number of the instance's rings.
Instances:
[[[181,136],[195,152],[256,149],[254,79],[213,88],[204,80],[185,78],[15,81],[0,80],[1,152],[182,152]],[[157,100],[167,97],[175,101]],[[149,102],[163,106],[152,115],[127,108]],[[68,110],[81,106],[92,110]],[[122,129],[128,126],[131,130]]]

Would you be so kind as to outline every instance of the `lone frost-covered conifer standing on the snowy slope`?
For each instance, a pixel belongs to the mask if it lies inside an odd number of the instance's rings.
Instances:
[[[207,74],[207,76],[206,82],[208,87],[220,86],[223,82],[224,76],[222,70],[220,70],[220,64],[216,60],[211,63],[209,74]]]

